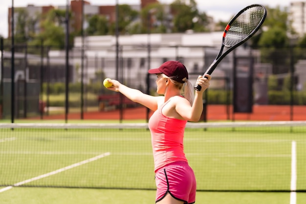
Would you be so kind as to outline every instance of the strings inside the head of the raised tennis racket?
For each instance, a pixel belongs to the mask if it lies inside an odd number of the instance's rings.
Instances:
[[[265,9],[260,6],[251,7],[242,12],[231,23],[224,38],[225,46],[233,46],[247,38],[260,24],[265,15]]]

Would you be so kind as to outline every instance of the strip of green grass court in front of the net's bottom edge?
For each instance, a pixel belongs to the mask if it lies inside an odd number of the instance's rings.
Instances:
[[[0,193],[1,204],[154,204],[153,190],[13,188]],[[290,193],[197,192],[196,204],[289,204]],[[297,194],[304,204],[306,193]]]

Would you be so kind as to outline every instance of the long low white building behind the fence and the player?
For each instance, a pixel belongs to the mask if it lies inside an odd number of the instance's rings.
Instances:
[[[214,61],[219,53],[219,46],[222,40],[221,32],[205,33],[168,33],[168,34],[134,34],[123,35],[119,37],[119,80],[125,81],[129,86],[144,88],[146,87],[146,77],[148,68],[159,67],[163,62],[168,60],[179,60],[182,62],[190,73],[190,80],[195,83],[197,76],[203,74],[209,65]],[[105,77],[116,78],[115,69],[115,50],[116,39],[114,36],[87,36],[85,38],[85,68],[84,82],[90,83],[96,80],[97,73],[103,72]],[[150,45],[151,49],[148,49]],[[81,49],[82,37],[74,39],[74,48],[70,60],[71,66],[74,67],[73,81],[80,81]],[[214,71],[214,77],[218,80],[212,82],[212,87],[225,87],[225,81],[229,80],[232,84],[233,74],[233,53],[228,54],[218,68]],[[264,71],[264,77],[271,74],[270,65],[263,65],[260,62],[260,52],[252,51],[245,46],[236,49],[238,58],[254,58],[255,73]],[[51,50],[51,58],[64,56],[64,51]],[[149,58],[150,56],[150,65]],[[263,67],[269,68],[263,68]],[[123,77],[123,78],[120,78]],[[151,78],[151,84],[154,85],[155,76]]]

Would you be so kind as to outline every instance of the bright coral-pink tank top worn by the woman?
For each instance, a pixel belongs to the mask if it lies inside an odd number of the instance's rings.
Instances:
[[[187,161],[183,145],[187,120],[163,115],[161,110],[167,103],[159,107],[149,120],[155,172],[174,161]]]

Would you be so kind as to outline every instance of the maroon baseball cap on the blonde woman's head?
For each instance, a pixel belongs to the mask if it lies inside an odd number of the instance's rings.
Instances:
[[[159,68],[153,68],[149,70],[150,74],[163,73],[170,79],[184,84],[188,79],[188,72],[186,67],[179,61],[167,61],[163,63]]]

